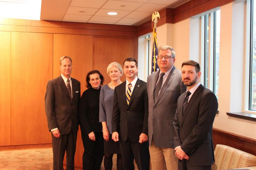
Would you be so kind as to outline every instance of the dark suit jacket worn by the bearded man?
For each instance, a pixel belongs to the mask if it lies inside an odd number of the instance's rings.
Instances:
[[[212,165],[212,123],[218,109],[217,98],[212,91],[199,85],[182,116],[185,95],[186,92],[178,99],[177,113],[173,120],[174,148],[181,146],[192,166]]]

